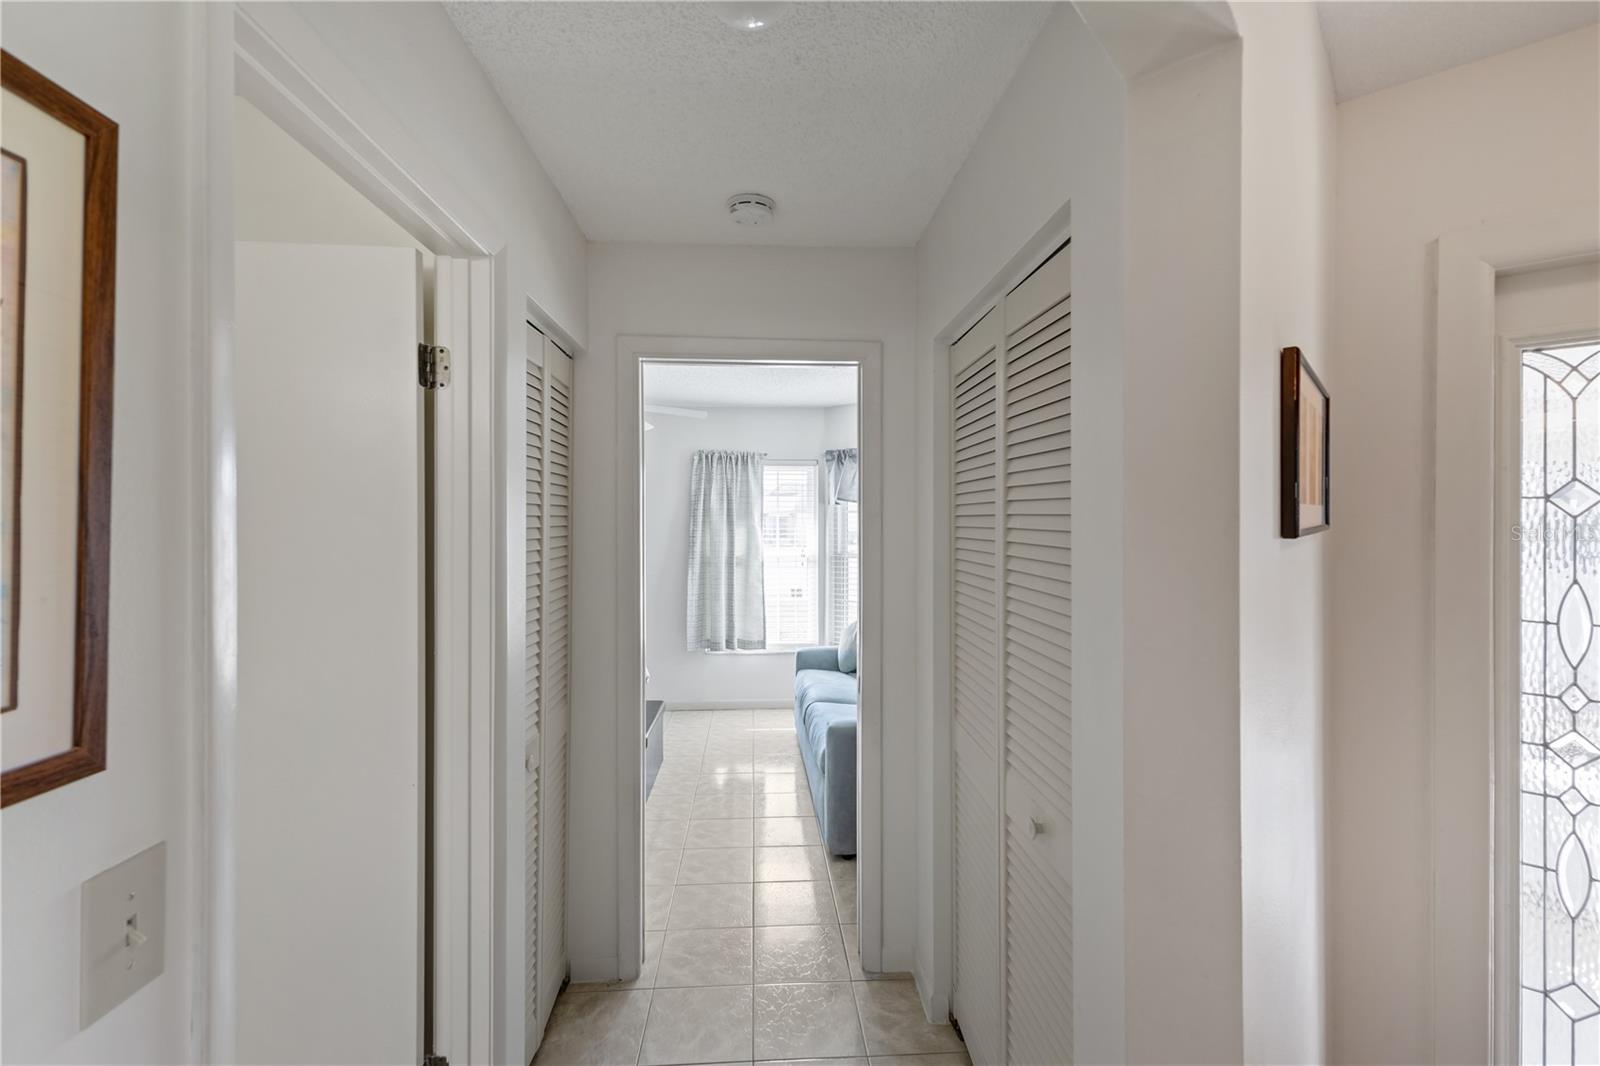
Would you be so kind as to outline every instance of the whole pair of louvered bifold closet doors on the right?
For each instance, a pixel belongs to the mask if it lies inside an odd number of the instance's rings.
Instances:
[[[1070,272],[1062,248],[950,349],[952,1005],[974,1063],[1072,1061]]]

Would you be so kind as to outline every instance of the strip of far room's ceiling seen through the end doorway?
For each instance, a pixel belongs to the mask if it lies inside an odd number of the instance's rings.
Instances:
[[[704,410],[854,402],[854,367],[645,363],[645,403]]]

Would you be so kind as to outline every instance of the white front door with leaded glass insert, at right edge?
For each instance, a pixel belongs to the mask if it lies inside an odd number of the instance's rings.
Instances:
[[[1594,810],[1584,807],[1595,799],[1597,778],[1586,768],[1592,746],[1582,738],[1594,731],[1594,712],[1563,699],[1573,695],[1571,682],[1597,695],[1595,651],[1587,647],[1592,595],[1576,592],[1594,587],[1589,552],[1578,547],[1592,539],[1595,522],[1581,499],[1594,480],[1595,397],[1578,386],[1586,376],[1566,376],[1557,360],[1571,357],[1566,346],[1592,346],[1600,336],[1600,261],[1499,277],[1494,288],[1493,778],[1510,787],[1498,789],[1493,826],[1491,1036],[1504,1061],[1590,1061],[1600,1042],[1600,1018],[1582,1018],[1586,997],[1600,991],[1592,978],[1595,944],[1586,932],[1594,917],[1584,901],[1568,916],[1573,898],[1557,884],[1579,868],[1586,884],[1594,874],[1592,855],[1573,861],[1586,847],[1568,847],[1574,834],[1592,839],[1595,824]],[[1525,360],[1525,349],[1557,355]],[[1566,448],[1555,455],[1552,443]],[[1538,579],[1528,584],[1533,575]],[[1578,639],[1581,632],[1590,639]],[[1568,714],[1571,706],[1578,711]]]

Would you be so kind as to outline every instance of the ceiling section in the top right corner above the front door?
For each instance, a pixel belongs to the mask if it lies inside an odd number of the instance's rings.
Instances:
[[[1595,0],[1322,0],[1338,99],[1354,99],[1600,19]]]

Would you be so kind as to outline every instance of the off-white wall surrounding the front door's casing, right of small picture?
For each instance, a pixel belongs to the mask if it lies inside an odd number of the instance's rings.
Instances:
[[[1600,30],[1338,109],[1328,539],[1328,1058],[1424,1061],[1430,962],[1434,357],[1429,245],[1482,219],[1592,203]],[[1474,812],[1438,812],[1472,818]]]

